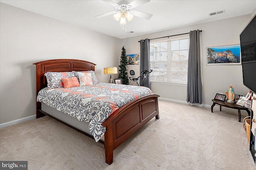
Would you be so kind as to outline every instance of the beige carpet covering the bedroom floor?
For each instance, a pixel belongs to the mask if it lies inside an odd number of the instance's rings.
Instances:
[[[0,160],[27,160],[29,170],[255,169],[236,110],[211,113],[167,101],[159,101],[159,110],[159,120],[114,150],[111,165],[103,144],[48,116],[1,128]]]

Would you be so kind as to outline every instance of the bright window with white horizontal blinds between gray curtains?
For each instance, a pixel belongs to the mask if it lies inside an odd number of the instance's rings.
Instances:
[[[150,40],[150,81],[187,84],[189,34]]]

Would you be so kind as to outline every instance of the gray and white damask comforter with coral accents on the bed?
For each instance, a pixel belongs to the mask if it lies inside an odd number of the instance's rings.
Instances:
[[[96,142],[104,136],[101,124],[118,108],[152,91],[147,87],[98,83],[94,86],[42,89],[37,96],[43,102],[80,121],[90,122],[89,129]]]

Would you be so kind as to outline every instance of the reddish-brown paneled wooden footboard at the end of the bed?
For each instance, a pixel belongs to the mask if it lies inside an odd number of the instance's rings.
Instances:
[[[104,145],[107,164],[112,164],[113,151],[120,144],[153,117],[159,119],[158,97],[159,95],[148,95],[127,103],[102,123],[106,127]]]

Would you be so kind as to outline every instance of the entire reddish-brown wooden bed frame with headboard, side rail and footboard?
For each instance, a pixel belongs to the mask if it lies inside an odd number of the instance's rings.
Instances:
[[[66,72],[66,71],[94,71],[95,64],[88,61],[78,59],[52,59],[33,63],[36,65],[36,95],[38,92],[47,87],[46,72]],[[104,147],[106,163],[112,164],[113,151],[120,146],[132,134],[138,131],[143,125],[148,123],[153,117],[159,119],[158,111],[158,97],[159,95],[148,95],[130,101],[126,105],[120,107],[112,115],[110,115],[102,126],[106,127],[104,134]],[[36,118],[48,115],[41,110],[41,103],[36,103]],[[48,115],[52,117],[51,115]],[[52,117],[56,119],[55,117]],[[60,121],[56,119],[57,121]],[[61,123],[64,123],[60,121]],[[83,133],[85,132],[64,123],[65,125]],[[86,134],[91,136],[90,134]]]

